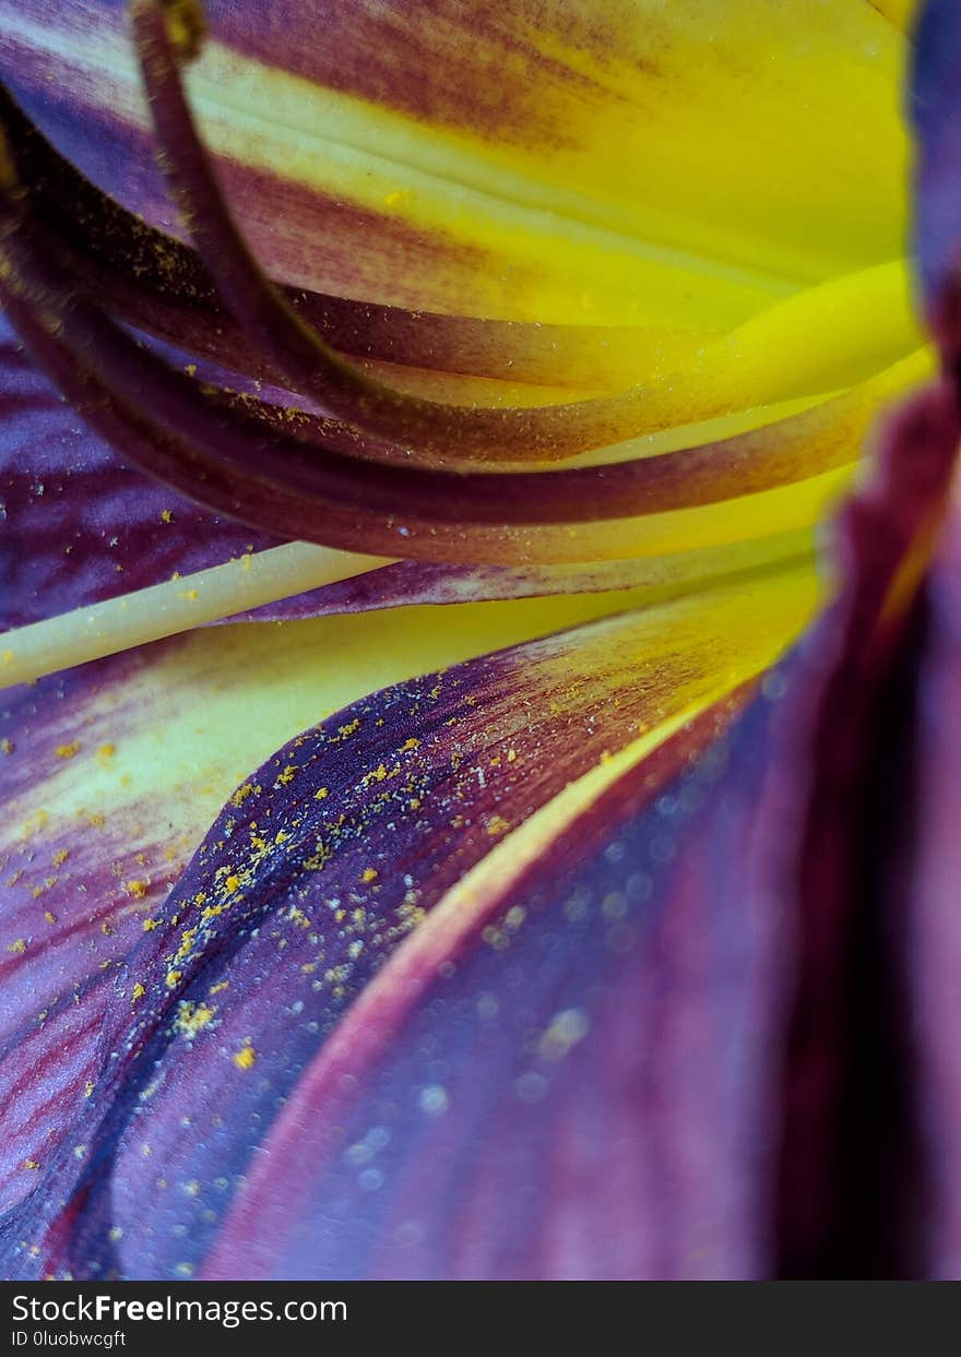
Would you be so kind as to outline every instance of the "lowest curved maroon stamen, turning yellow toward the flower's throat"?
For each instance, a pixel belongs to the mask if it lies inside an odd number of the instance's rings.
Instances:
[[[362,463],[270,433],[243,404],[209,399],[200,383],[136,343],[71,288],[10,176],[0,229],[14,320],[103,437],[217,512],[345,550],[501,562],[505,547],[513,544],[517,554],[520,528],[538,539],[539,560],[581,560],[577,525],[734,499],[844,465],[877,400],[873,389],[859,388],[726,442],[611,467],[505,475]],[[561,531],[550,532],[551,525]],[[641,535],[635,522],[626,547],[601,555],[643,554]]]

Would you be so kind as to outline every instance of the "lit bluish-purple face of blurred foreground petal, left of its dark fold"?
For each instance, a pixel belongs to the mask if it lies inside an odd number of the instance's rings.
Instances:
[[[742,851],[771,710],[434,913],[304,1073],[205,1274],[763,1274],[790,930]]]

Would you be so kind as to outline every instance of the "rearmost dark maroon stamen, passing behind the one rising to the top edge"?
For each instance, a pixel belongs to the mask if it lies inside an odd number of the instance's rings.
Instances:
[[[73,271],[102,299],[105,309],[233,372],[282,384],[282,373],[265,362],[220,305],[197,252],[134,217],[80,174],[3,83],[0,130],[7,134],[20,182],[30,186],[38,221],[56,235]],[[637,334],[609,327],[410,312],[285,284],[274,286],[333,347],[407,368],[555,385],[557,356],[573,350],[581,384],[604,385],[612,349],[623,364],[620,350],[637,345]]]

